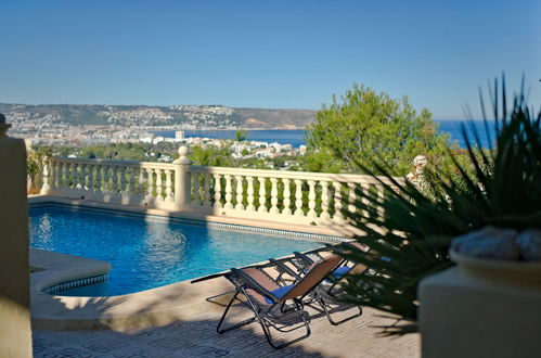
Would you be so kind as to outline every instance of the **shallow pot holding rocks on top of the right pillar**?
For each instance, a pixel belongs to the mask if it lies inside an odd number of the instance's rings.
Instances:
[[[514,261],[466,256],[451,250],[451,259],[463,274],[494,284],[541,290],[541,263]]]

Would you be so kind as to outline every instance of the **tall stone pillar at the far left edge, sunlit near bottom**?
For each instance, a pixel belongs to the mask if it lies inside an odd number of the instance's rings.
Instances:
[[[0,357],[31,357],[26,149],[0,114]]]

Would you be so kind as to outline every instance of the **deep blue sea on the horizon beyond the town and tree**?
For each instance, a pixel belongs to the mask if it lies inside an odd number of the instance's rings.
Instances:
[[[484,120],[448,119],[435,120],[439,125],[439,131],[450,135],[451,142],[456,142],[460,148],[466,146],[466,141],[461,128],[466,130],[471,142],[475,142],[474,130],[479,136],[481,148],[492,148],[495,133],[495,123],[488,122],[488,136]],[[211,139],[234,139],[236,130],[184,130],[185,138],[211,138]],[[154,135],[166,138],[175,138],[175,131],[154,131]],[[306,144],[302,129],[281,130],[281,129],[258,129],[248,130],[247,140],[259,142],[278,142],[280,144],[292,144],[294,148]]]

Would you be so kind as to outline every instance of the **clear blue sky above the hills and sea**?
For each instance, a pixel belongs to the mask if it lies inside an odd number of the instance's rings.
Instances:
[[[541,1],[0,2],[0,102],[320,108],[353,82],[462,119],[541,103]]]

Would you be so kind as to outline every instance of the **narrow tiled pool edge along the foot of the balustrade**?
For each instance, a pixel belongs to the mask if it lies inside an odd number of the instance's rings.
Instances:
[[[191,225],[197,227],[207,227],[212,229],[220,230],[229,230],[236,232],[246,232],[246,233],[256,233],[263,235],[273,235],[273,236],[282,236],[287,239],[295,240],[306,240],[306,241],[318,241],[318,242],[343,242],[348,240],[347,238],[342,236],[333,236],[333,235],[322,235],[315,233],[300,232],[300,231],[288,231],[288,230],[280,230],[280,229],[269,229],[269,228],[258,228],[258,227],[249,227],[234,223],[222,223],[222,222],[211,222],[196,219],[186,219],[171,216],[162,216],[156,214],[143,214],[143,213],[133,213],[118,209],[110,209],[110,208],[96,208],[90,206],[82,205],[69,205],[62,203],[29,203],[29,208],[43,208],[43,207],[62,207],[70,210],[81,210],[81,212],[92,212],[98,214],[106,214],[114,215],[119,217],[133,217],[133,218],[144,218],[153,221],[162,221],[162,222],[172,222],[172,223],[181,223],[181,225]],[[67,289],[64,289],[67,290]]]

